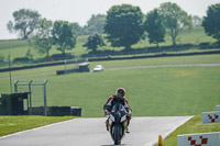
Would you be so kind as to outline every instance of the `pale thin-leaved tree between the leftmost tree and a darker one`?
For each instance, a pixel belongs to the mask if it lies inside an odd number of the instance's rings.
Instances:
[[[40,54],[46,54],[46,58],[48,58],[50,50],[53,46],[52,29],[53,22],[46,19],[42,19],[36,25],[37,33],[33,37],[34,48],[37,49]]]

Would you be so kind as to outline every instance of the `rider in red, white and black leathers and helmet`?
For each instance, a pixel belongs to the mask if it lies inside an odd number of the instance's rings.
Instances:
[[[128,121],[128,126],[129,126],[132,110],[129,106],[129,102],[128,102],[127,98],[124,97],[124,94],[125,94],[125,89],[124,88],[118,88],[116,94],[110,96],[109,99],[107,100],[106,104],[103,105],[103,111],[105,111],[105,115],[109,115],[112,106],[117,102],[120,102],[122,105],[124,105],[124,109],[127,110],[127,121]],[[109,131],[108,124],[109,124],[109,117],[106,121],[107,131]],[[127,133],[130,133],[129,127],[127,128]]]

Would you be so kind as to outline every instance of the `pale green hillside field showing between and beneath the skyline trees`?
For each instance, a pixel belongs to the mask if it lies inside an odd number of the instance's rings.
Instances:
[[[103,35],[105,36],[105,35]],[[82,47],[88,36],[78,36],[76,47],[72,50],[67,50],[66,53],[72,54],[75,58],[80,58],[82,54],[87,54],[89,50],[86,47]],[[165,43],[161,43],[160,46],[170,46],[172,40],[169,36],[165,37]],[[105,41],[107,46],[98,48],[98,50],[121,50],[123,47],[112,47],[110,43]],[[200,43],[213,43],[216,42],[212,37],[208,36],[201,26],[195,27],[193,31],[183,31],[177,37],[177,44],[200,44]],[[132,48],[145,48],[145,47],[154,47],[155,44],[150,44],[148,40],[142,40],[138,44],[133,45]],[[45,55],[38,54],[34,48],[30,47],[28,41],[23,40],[10,40],[10,41],[0,41],[0,57],[6,61],[8,59],[9,53],[11,54],[11,58],[25,57],[28,49],[31,49],[31,55],[33,55],[33,59],[44,58]],[[56,46],[52,48],[50,55],[61,54],[61,52],[55,49]]]

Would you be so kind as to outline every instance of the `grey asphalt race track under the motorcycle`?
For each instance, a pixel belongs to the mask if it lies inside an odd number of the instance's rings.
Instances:
[[[193,116],[133,117],[122,146],[152,146]],[[113,146],[105,117],[76,119],[0,137],[0,146]]]

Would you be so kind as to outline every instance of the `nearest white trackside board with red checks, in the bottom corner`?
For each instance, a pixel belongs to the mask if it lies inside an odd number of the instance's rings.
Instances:
[[[177,135],[177,146],[220,146],[220,133]]]

